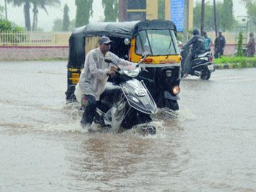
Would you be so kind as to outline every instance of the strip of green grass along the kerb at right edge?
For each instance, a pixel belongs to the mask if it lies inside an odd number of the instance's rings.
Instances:
[[[217,65],[229,63],[233,65],[233,68],[250,68],[250,67],[256,67],[256,57],[222,56],[221,58],[214,59],[213,63]]]

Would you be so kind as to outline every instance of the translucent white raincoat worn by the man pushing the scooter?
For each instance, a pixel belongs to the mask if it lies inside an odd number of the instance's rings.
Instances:
[[[99,101],[99,97],[105,90],[105,84],[107,82],[107,73],[113,64],[105,62],[105,58],[112,59],[118,65],[132,65],[134,68],[136,63],[128,62],[124,59],[120,59],[112,52],[107,52],[103,55],[99,48],[93,49],[88,52],[85,58],[85,65],[80,79],[76,85],[74,94],[78,102],[81,102],[84,94],[91,94]]]

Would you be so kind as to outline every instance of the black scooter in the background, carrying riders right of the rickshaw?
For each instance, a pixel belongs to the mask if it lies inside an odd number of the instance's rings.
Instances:
[[[185,74],[183,71],[185,60],[189,54],[190,48],[185,44],[180,51],[180,55],[182,56],[182,72],[181,77]],[[213,65],[214,56],[212,52],[204,52],[202,54],[196,55],[196,57],[192,60],[191,68],[188,74],[191,76],[200,77],[203,80],[208,80],[211,77],[211,73],[215,71],[215,66]]]

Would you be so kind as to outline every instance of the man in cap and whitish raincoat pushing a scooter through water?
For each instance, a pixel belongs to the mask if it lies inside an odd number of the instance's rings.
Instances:
[[[105,58],[115,60],[118,65],[130,65],[136,67],[137,63],[128,62],[120,59],[117,55],[110,52],[112,41],[108,37],[99,38],[99,47],[88,52],[85,58],[85,65],[80,79],[76,85],[74,94],[78,102],[87,102],[80,121],[82,127],[90,127],[96,113],[97,102],[103,91],[108,76],[114,76],[115,71],[111,71],[111,65],[105,62]]]

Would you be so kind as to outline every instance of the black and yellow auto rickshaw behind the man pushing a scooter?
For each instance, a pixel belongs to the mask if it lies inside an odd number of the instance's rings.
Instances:
[[[98,47],[101,36],[113,41],[110,51],[118,57],[138,63],[149,52],[138,77],[150,91],[157,106],[179,110],[180,56],[176,26],[167,20],[90,23],[74,30],[69,38],[68,89],[66,100],[74,101],[74,90],[84,68],[88,51]],[[110,78],[109,78],[110,79]]]

